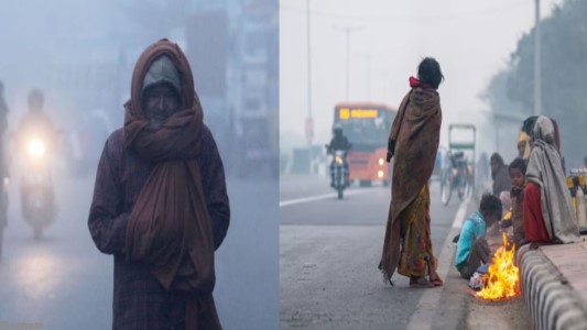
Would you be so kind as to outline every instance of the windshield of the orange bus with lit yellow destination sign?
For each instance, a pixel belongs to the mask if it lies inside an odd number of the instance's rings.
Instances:
[[[343,133],[354,150],[385,146],[395,111],[381,107],[336,107],[335,124],[343,128]]]

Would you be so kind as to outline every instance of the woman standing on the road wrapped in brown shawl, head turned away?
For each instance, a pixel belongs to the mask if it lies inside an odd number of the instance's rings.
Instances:
[[[417,78],[403,98],[388,141],[388,162],[393,162],[391,204],[379,268],[391,285],[395,271],[410,277],[412,287],[443,285],[436,273],[431,241],[428,179],[434,169],[441,135],[441,66],[424,58]]]

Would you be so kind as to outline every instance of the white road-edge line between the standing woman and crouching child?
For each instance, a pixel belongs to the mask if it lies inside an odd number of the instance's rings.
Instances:
[[[457,213],[453,220],[453,226],[446,235],[446,239],[443,243],[443,249],[441,250],[441,255],[438,256],[438,276],[444,280],[446,285],[446,276],[448,275],[448,270],[453,267],[453,254],[455,253],[454,249],[450,249],[450,243],[453,243],[453,238],[460,232],[460,227],[463,226],[463,220],[465,218],[465,212],[467,212],[467,205],[471,197],[463,200],[458,206]],[[420,329],[431,329],[432,322],[434,320],[434,315],[436,312],[436,307],[438,307],[438,300],[441,300],[441,295],[445,290],[445,287],[437,288],[427,288],[425,293],[420,298],[420,301],[416,306],[416,311],[410,318],[407,323],[407,330],[420,330]]]

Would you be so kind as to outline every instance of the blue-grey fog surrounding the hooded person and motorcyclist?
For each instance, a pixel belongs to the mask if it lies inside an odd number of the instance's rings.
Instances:
[[[278,327],[278,26],[276,0],[2,1],[0,81],[10,109],[11,172],[2,324],[111,326],[112,256],[99,253],[87,228],[96,166],[106,139],[123,124],[138,56],[167,37],[188,57],[227,174],[231,223],[216,253],[221,323]],[[58,215],[40,240],[21,215],[21,163],[13,153],[34,88],[63,133],[50,151]]]

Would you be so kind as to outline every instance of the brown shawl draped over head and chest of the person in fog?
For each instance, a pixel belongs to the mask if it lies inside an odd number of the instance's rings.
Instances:
[[[165,54],[182,78],[183,110],[161,128],[152,127],[141,109],[141,88],[151,63]],[[203,111],[194,91],[187,59],[180,47],[161,40],[139,57],[131,99],[124,105],[124,143],[157,165],[149,176],[127,228],[130,261],[151,265],[167,289],[193,293],[186,301],[187,329],[220,329],[211,296],[215,285],[211,226],[202,187],[199,153]]]

